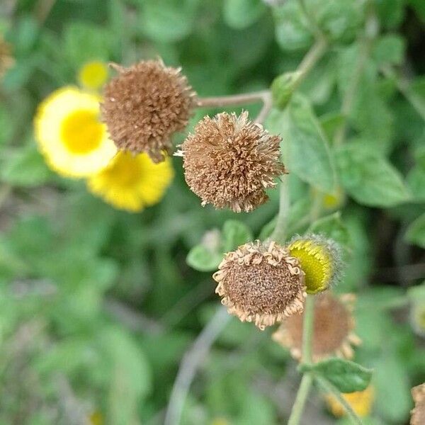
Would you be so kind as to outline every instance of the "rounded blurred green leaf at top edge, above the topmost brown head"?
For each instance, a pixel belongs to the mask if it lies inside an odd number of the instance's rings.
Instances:
[[[144,1],[141,30],[158,42],[182,40],[191,33],[199,3],[199,0]]]

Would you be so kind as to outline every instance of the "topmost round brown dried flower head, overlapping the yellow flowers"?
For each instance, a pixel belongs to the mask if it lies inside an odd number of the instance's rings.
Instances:
[[[162,60],[115,66],[104,89],[103,120],[118,149],[146,152],[154,162],[171,151],[171,135],[188,124],[196,94],[178,68]]]

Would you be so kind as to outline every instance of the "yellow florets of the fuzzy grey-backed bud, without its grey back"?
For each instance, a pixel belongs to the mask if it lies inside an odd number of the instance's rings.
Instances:
[[[289,253],[300,261],[302,271],[305,273],[307,293],[315,294],[328,288],[332,259],[324,246],[300,239],[290,244]]]

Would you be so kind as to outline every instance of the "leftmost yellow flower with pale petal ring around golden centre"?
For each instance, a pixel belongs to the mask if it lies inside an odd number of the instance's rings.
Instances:
[[[99,98],[74,87],[59,89],[35,115],[35,139],[47,164],[67,177],[87,177],[111,161],[117,149],[99,120]]]

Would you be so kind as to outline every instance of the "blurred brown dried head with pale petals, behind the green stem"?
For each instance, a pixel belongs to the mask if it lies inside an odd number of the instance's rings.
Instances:
[[[339,299],[330,293],[317,297],[314,304],[314,336],[312,358],[314,361],[330,356],[351,358],[353,348],[361,340],[353,333],[355,322],[352,314],[354,296],[345,294]],[[273,334],[273,339],[288,348],[291,355],[300,360],[302,350],[302,320],[304,314],[288,317]]]

